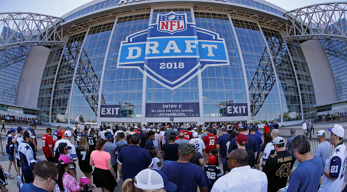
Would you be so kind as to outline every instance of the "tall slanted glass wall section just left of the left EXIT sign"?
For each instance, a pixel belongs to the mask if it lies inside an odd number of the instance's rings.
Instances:
[[[71,97],[70,123],[96,122],[100,77],[114,22],[91,27],[81,49]],[[104,98],[102,98],[104,102]]]

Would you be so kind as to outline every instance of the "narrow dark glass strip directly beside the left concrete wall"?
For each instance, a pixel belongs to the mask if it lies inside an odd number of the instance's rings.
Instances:
[[[37,101],[37,108],[40,111],[37,113],[38,121],[49,122],[49,109],[51,107],[51,97],[53,90],[53,83],[47,84],[47,82],[53,82],[56,76],[60,56],[62,49],[58,47],[53,48],[48,55],[48,59],[43,70],[39,98]]]

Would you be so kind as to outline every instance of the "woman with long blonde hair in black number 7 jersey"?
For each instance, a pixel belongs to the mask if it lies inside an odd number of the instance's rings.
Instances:
[[[81,137],[79,138],[79,146],[76,147],[76,154],[78,157],[78,166],[81,169],[84,176],[88,177],[89,181],[92,181],[92,172],[93,168],[90,166],[90,154],[92,153],[92,149],[88,147],[87,138]],[[91,186],[92,189],[94,186]]]

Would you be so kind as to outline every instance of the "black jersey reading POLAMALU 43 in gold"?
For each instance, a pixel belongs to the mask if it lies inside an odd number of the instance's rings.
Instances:
[[[287,185],[289,170],[293,168],[295,156],[289,151],[278,151],[266,160],[263,172],[268,177],[268,192],[277,192]]]

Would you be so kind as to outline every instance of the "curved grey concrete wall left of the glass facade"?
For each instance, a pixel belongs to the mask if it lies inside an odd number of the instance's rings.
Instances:
[[[16,105],[37,108],[42,74],[49,52],[50,49],[44,46],[30,47],[19,77]]]

